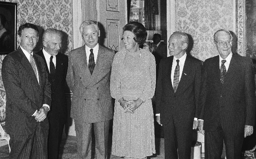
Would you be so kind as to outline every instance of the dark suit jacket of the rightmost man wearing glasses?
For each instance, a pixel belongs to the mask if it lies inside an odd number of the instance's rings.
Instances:
[[[223,85],[219,55],[206,59],[200,94],[199,118],[206,131],[215,131],[219,122],[228,133],[243,133],[245,125],[254,126],[255,82],[249,58],[233,53]]]

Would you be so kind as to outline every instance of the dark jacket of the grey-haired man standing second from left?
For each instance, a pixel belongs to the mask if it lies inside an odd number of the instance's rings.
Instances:
[[[60,120],[67,120],[67,106],[66,106],[66,98],[65,98],[65,86],[66,86],[66,76],[67,76],[67,68],[68,68],[68,57],[64,54],[56,55],[56,74],[55,78],[51,78],[50,71],[47,67],[47,63],[45,60],[45,56],[43,54],[43,49],[37,52],[44,61],[46,66],[46,72],[48,74],[49,82],[51,83],[51,91],[52,91],[52,106],[51,111],[48,115],[51,118],[57,118]]]

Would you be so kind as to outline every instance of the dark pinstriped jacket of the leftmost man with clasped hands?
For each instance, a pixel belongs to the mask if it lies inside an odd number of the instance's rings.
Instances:
[[[2,63],[2,80],[6,90],[6,131],[10,135],[29,135],[35,131],[33,113],[43,104],[51,105],[51,85],[43,59],[33,54],[39,84],[30,62],[18,48],[6,55]],[[48,129],[48,118],[39,122]]]

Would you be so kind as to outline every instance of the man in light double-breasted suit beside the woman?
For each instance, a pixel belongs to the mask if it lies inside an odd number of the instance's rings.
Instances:
[[[73,92],[70,116],[74,119],[78,158],[91,159],[91,133],[95,132],[96,158],[105,159],[113,105],[109,89],[113,50],[98,44],[100,30],[92,20],[82,22],[85,45],[69,53],[67,84]]]

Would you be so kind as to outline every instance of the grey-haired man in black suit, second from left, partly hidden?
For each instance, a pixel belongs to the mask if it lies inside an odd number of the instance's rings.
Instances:
[[[46,72],[52,85],[52,106],[48,113],[50,129],[48,134],[48,159],[59,158],[59,146],[64,124],[67,121],[65,85],[68,57],[59,53],[62,42],[61,31],[46,29],[43,33],[44,48],[37,52],[45,61]],[[59,54],[58,54],[59,53]]]

